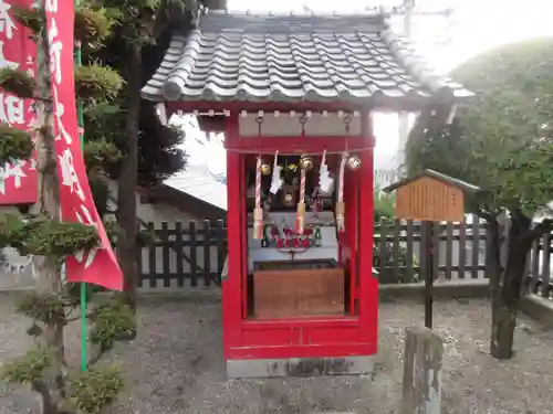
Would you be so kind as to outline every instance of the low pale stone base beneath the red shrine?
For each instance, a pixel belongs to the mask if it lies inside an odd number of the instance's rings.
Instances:
[[[374,355],[228,360],[227,375],[240,378],[352,375],[374,372]]]

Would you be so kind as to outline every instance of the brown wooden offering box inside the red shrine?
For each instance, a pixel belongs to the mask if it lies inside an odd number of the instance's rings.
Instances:
[[[344,315],[344,270],[334,259],[255,262],[255,318]]]

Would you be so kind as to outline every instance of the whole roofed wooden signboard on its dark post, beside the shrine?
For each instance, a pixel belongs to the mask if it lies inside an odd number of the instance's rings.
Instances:
[[[420,252],[426,263],[425,326],[432,328],[434,302],[434,223],[463,222],[465,194],[480,189],[465,181],[432,171],[396,182],[383,191],[396,191],[396,219],[420,221],[426,252]]]

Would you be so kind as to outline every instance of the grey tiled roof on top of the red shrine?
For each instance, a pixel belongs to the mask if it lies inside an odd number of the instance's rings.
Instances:
[[[377,107],[472,94],[435,74],[385,14],[210,12],[175,35],[152,100],[352,102]]]

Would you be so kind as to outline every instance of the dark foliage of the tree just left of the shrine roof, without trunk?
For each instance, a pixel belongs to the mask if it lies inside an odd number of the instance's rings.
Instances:
[[[115,3],[117,1],[115,0]],[[111,3],[109,3],[111,4]],[[173,4],[173,3],[171,3]],[[111,4],[114,6],[114,4]],[[136,26],[136,19],[125,20],[117,13],[114,19],[117,21],[115,30],[112,35],[103,42],[100,50],[88,50],[85,54],[85,62],[94,63],[101,62],[102,64],[109,65],[118,71],[124,81],[131,77],[129,71],[135,71],[135,67],[128,65],[129,47],[133,47],[133,41],[129,40],[133,31],[144,30],[148,35],[140,38],[142,44],[142,71],[140,71],[140,85],[133,85],[140,87],[146,81],[155,73],[165,51],[170,41],[170,24],[169,22],[180,22],[186,25],[186,22],[191,18],[186,14],[184,3],[175,1],[175,8],[180,6],[181,9],[173,10],[170,15],[165,15],[170,4],[166,2],[157,2],[154,6],[143,6],[140,13],[161,13],[158,24],[163,26],[160,33],[154,34],[155,28],[153,22],[156,21],[154,17],[145,18],[140,21],[149,26]],[[109,9],[113,10],[113,9]],[[142,9],[140,9],[142,10]],[[164,23],[166,22],[166,23]],[[136,34],[136,33],[135,33]],[[154,35],[157,38],[154,42]],[[138,41],[138,40],[136,40]],[[128,82],[125,86],[131,87]],[[124,87],[116,99],[112,99],[109,104],[98,105],[91,102],[85,108],[85,141],[91,147],[88,150],[98,149],[95,145],[96,141],[102,141],[104,150],[107,145],[111,145],[111,152],[119,151],[118,162],[113,162],[107,169],[112,178],[117,178],[121,171],[121,162],[124,161],[129,147],[129,137],[126,126],[126,116],[132,105],[136,105],[136,99],[129,99],[127,87]],[[184,131],[170,126],[164,126],[159,121],[155,105],[149,102],[142,102],[140,114],[138,119],[138,182],[143,185],[158,183],[173,173],[181,170],[186,163],[186,155],[178,148],[185,138]],[[97,158],[97,157],[96,157]]]

